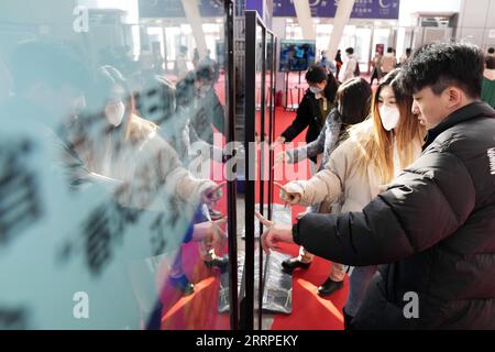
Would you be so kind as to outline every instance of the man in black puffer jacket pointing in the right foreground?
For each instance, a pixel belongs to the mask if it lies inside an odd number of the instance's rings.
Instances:
[[[483,54],[420,48],[402,82],[427,127],[421,156],[363,212],[263,220],[266,248],[295,242],[349,265],[386,264],[354,329],[495,329],[495,110],[480,101]]]

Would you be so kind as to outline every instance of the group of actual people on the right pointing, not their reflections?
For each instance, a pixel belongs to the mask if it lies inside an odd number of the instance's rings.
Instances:
[[[491,52],[429,44],[400,65],[393,50],[377,53],[373,95],[346,75],[353,51],[331,90],[330,70],[308,70],[309,89],[277,140],[309,125],[305,155],[323,154],[310,179],[278,185],[284,201],[308,211],[295,224],[256,216],[267,253],[282,242],[301,245],[283,270],[309,270],[314,255],[333,263],[319,295],[340,289],[350,273],[345,329],[495,329]],[[284,151],[275,161],[295,163],[300,153]],[[409,311],[408,297],[419,308]]]

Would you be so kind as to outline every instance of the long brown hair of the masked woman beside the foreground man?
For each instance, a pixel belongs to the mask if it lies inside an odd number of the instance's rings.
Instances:
[[[359,133],[363,131],[359,127],[354,133],[351,131],[351,135],[354,135],[360,144],[358,165],[362,170],[365,170],[366,166],[372,166],[383,183],[389,183],[394,178],[394,143],[396,143],[400,168],[405,168],[417,157],[416,151],[426,134],[425,128],[411,112],[413,97],[405,95],[398,87],[399,74],[400,69],[395,69],[386,75],[373,96],[371,121],[364,122],[373,124],[371,134]],[[385,86],[393,89],[400,113],[395,131],[385,130],[380,117],[378,97]]]

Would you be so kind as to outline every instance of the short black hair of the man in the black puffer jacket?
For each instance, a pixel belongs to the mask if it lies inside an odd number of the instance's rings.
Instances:
[[[465,43],[435,43],[421,46],[404,65],[400,86],[415,94],[429,86],[440,95],[455,86],[469,97],[479,98],[483,81],[484,55]]]

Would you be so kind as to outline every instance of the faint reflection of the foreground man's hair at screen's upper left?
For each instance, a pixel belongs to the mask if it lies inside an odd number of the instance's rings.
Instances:
[[[41,81],[53,88],[68,84],[82,91],[90,87],[89,67],[78,53],[59,42],[29,41],[18,45],[10,58],[10,70],[16,92]]]

